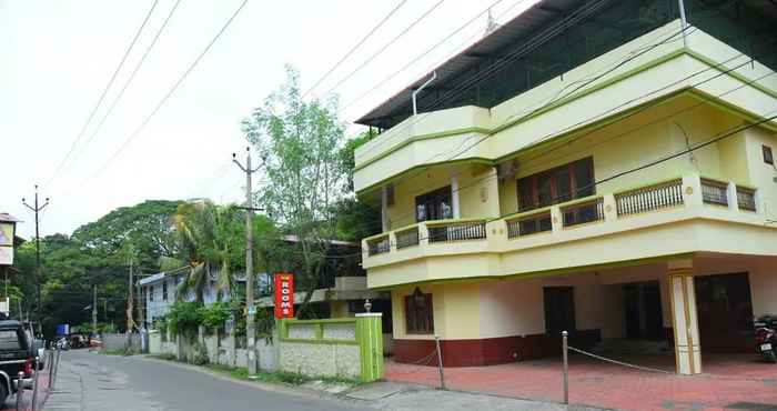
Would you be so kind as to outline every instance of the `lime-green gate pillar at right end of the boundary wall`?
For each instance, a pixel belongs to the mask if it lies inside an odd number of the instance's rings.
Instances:
[[[383,378],[383,314],[364,312],[356,314],[356,341],[362,382]]]

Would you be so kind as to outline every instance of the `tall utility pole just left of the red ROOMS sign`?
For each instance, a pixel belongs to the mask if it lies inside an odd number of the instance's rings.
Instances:
[[[245,167],[232,153],[232,161],[245,173],[245,334],[249,351],[249,375],[256,375],[256,308],[253,304],[253,199],[251,193],[251,174],[259,170],[251,168],[251,149],[245,149]]]

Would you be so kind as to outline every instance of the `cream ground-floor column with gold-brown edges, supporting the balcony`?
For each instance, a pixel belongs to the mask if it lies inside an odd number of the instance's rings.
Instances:
[[[677,373],[685,375],[702,372],[702,347],[693,270],[693,260],[677,260],[668,263],[675,364]]]

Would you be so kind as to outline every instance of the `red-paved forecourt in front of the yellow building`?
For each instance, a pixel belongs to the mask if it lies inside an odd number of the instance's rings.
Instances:
[[[674,371],[672,352],[620,360]],[[440,384],[435,367],[386,362],[385,379]],[[561,402],[559,358],[492,367],[446,368],[448,389]],[[569,403],[617,410],[771,410],[777,408],[777,365],[751,354],[705,354],[704,373],[650,373],[571,353]]]

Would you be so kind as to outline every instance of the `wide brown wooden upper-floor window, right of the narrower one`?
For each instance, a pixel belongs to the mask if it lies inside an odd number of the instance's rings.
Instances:
[[[594,159],[578,160],[518,180],[518,211],[528,211],[596,193]]]

